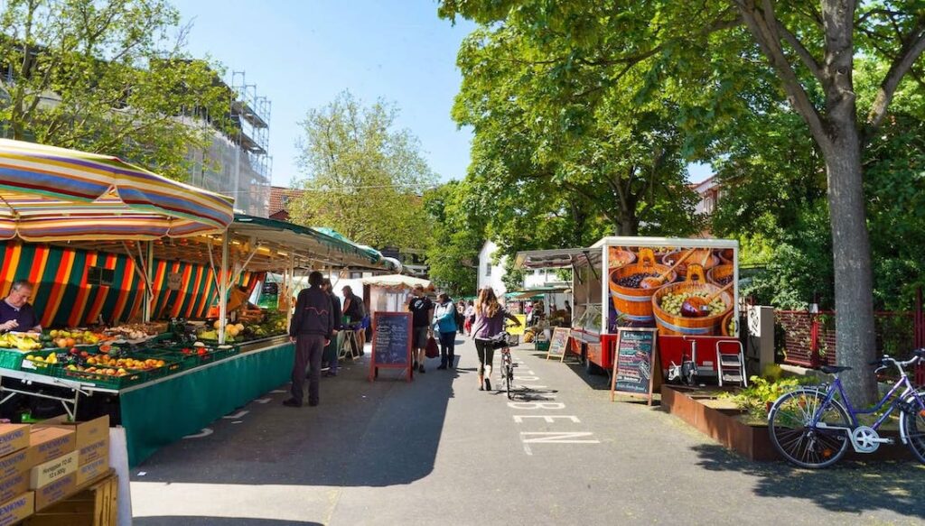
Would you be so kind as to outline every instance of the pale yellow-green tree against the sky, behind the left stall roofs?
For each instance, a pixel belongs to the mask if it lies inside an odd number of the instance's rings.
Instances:
[[[426,249],[430,225],[421,193],[436,183],[407,129],[393,129],[392,104],[364,106],[350,92],[309,110],[299,166],[302,196],[290,204],[296,223],[330,226],[373,247]]]

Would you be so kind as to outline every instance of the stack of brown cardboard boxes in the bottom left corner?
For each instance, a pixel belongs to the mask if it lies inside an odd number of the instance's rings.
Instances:
[[[74,495],[108,472],[108,416],[0,424],[0,526]]]

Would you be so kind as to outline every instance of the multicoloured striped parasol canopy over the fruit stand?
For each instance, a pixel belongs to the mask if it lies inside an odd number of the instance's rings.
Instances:
[[[233,202],[117,157],[0,140],[0,239],[215,234],[233,220]]]

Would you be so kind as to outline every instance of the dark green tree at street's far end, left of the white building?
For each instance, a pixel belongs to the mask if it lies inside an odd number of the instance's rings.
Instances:
[[[468,199],[464,181],[450,181],[424,196],[434,240],[427,250],[430,279],[451,297],[475,295],[478,283],[478,252],[485,226],[481,217],[470,214]]]

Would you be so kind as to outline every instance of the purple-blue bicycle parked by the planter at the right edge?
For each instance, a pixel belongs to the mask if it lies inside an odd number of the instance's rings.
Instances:
[[[768,412],[768,432],[774,447],[784,459],[801,468],[827,468],[845,456],[849,445],[858,453],[873,453],[881,444],[893,444],[892,438],[880,436],[877,430],[898,408],[900,439],[925,463],[925,390],[916,391],[905,370],[925,361],[925,349],[916,349],[913,355],[907,361],[883,356],[870,362],[877,366],[875,373],[894,365],[900,378],[880,402],[867,410],[855,410],[845,395],[838,373],[850,367],[822,367],[823,373],[835,374],[832,385],[800,387],[774,401]],[[857,415],[876,413],[891,400],[877,422],[867,426],[857,421]]]

